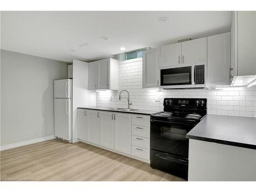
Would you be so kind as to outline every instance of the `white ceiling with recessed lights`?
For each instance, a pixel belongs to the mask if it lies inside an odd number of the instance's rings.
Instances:
[[[158,22],[163,16],[168,21]],[[230,26],[230,11],[2,11],[1,49],[92,61],[120,53],[121,47],[154,48],[228,32]],[[86,47],[78,47],[86,42]]]

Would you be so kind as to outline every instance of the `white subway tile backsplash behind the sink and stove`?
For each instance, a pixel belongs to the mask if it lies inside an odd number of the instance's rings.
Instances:
[[[96,105],[126,108],[127,100],[123,98],[119,101],[121,90],[129,91],[134,109],[162,111],[165,97],[206,98],[208,114],[256,117],[256,87],[224,90],[142,89],[142,60],[120,63],[119,90],[97,92]],[[112,101],[109,100],[110,96]],[[155,102],[156,98],[160,98],[160,102]]]

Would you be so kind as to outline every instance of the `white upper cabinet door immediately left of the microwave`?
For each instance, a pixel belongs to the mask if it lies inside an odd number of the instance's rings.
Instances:
[[[159,48],[143,51],[142,56],[142,88],[158,88],[159,86]]]

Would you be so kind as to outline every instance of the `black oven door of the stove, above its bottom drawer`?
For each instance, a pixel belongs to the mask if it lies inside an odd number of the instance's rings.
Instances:
[[[151,150],[188,159],[188,139],[186,134],[195,125],[180,121],[151,119]]]

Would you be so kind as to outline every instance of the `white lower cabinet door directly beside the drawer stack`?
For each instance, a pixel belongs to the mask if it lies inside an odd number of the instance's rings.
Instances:
[[[115,150],[131,155],[132,117],[129,114],[115,113]]]

